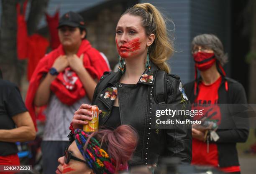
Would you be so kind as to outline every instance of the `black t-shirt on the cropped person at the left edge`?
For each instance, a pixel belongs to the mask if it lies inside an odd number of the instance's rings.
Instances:
[[[12,117],[26,111],[18,87],[11,82],[0,79],[0,129],[14,129],[16,126]],[[0,141],[0,156],[16,154],[17,152],[15,143]]]

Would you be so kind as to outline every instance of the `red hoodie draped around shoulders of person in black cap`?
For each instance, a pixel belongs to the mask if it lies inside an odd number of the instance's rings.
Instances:
[[[100,55],[100,52],[93,48],[87,40],[82,40],[77,56],[80,57],[82,54],[84,54],[84,67],[93,79],[97,78],[100,80],[103,72],[109,71],[108,65]],[[40,85],[41,78],[49,72],[54,61],[60,55],[65,55],[62,45],[50,52],[48,55],[45,55],[40,60],[31,77],[25,103],[29,113],[31,114],[35,127],[36,113],[33,101],[36,91]],[[66,70],[64,72],[60,72],[56,79],[51,83],[51,91],[54,92],[62,103],[72,105],[74,102],[86,95],[82,82],[77,77],[76,73],[73,72],[70,67],[67,67]]]

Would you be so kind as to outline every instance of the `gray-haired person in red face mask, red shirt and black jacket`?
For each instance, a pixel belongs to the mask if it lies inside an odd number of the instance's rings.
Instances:
[[[184,89],[192,107],[204,109],[201,119],[210,121],[210,127],[192,126],[192,164],[210,165],[227,173],[240,174],[236,143],[246,142],[248,129],[247,126],[244,129],[218,129],[223,118],[218,104],[246,104],[245,90],[239,82],[226,77],[222,66],[228,57],[215,35],[194,37],[192,56],[195,80],[184,85]],[[197,70],[200,71],[199,78]]]

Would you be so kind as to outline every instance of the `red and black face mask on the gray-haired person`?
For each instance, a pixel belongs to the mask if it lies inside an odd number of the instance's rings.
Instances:
[[[200,71],[208,70],[216,62],[214,53],[197,52],[193,54],[195,66]]]

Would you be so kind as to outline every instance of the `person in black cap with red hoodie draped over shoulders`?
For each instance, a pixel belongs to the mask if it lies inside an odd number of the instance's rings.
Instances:
[[[58,158],[69,145],[69,123],[82,103],[90,103],[97,81],[109,71],[99,51],[85,39],[84,19],[67,12],[59,20],[61,45],[38,63],[28,88],[26,106],[35,123],[35,107],[45,109],[43,169],[54,174]],[[40,48],[38,48],[40,49]]]

